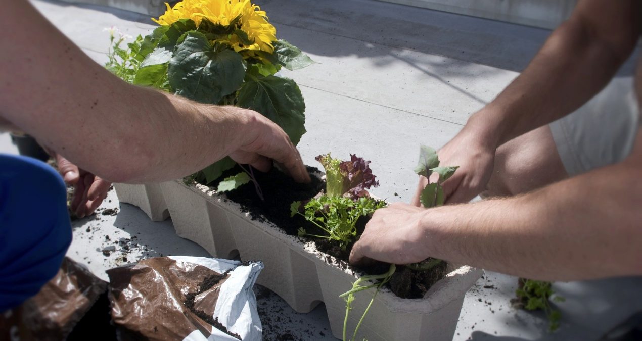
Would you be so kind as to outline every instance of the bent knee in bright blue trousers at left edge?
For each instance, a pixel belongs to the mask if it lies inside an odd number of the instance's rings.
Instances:
[[[44,162],[0,154],[0,312],[38,293],[70,243],[62,177]]]

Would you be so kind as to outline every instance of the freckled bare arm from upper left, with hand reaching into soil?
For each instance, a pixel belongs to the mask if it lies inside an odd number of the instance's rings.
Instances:
[[[4,119],[91,173],[116,182],[169,180],[230,155],[264,170],[273,158],[296,180],[308,179],[299,153],[268,119],[129,85],[27,1],[6,3],[0,30],[11,32],[0,37]]]

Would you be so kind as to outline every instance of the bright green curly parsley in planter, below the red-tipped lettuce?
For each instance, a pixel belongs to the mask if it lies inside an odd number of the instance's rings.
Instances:
[[[347,197],[329,197],[324,195],[313,198],[304,205],[304,213],[299,212],[300,202],[293,202],[290,206],[290,215],[299,214],[311,222],[326,235],[309,234],[308,231],[299,229],[299,236],[312,236],[336,240],[339,246],[345,248],[355,240],[357,235],[356,223],[362,216],[373,213],[376,209],[385,207],[385,202],[369,197],[352,200]]]

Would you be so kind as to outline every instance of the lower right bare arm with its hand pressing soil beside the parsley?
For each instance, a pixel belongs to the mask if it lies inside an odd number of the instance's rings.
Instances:
[[[352,249],[398,264],[428,256],[542,280],[642,275],[642,134],[632,155],[538,191],[375,212]]]

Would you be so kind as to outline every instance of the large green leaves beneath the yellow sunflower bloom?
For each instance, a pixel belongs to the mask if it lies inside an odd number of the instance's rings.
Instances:
[[[123,80],[135,85],[173,92],[207,104],[237,105],[256,110],[275,121],[294,144],[306,132],[305,103],[297,84],[275,76],[282,66],[300,69],[313,63],[305,53],[285,40],[272,42],[275,50],[234,51],[221,43],[234,35],[241,44],[254,41],[240,30],[241,18],[228,25],[202,19],[180,19],[159,26],[146,37],[137,37],[122,48],[125,36],[115,37],[105,65]],[[234,166],[227,158],[193,174],[210,184]]]

